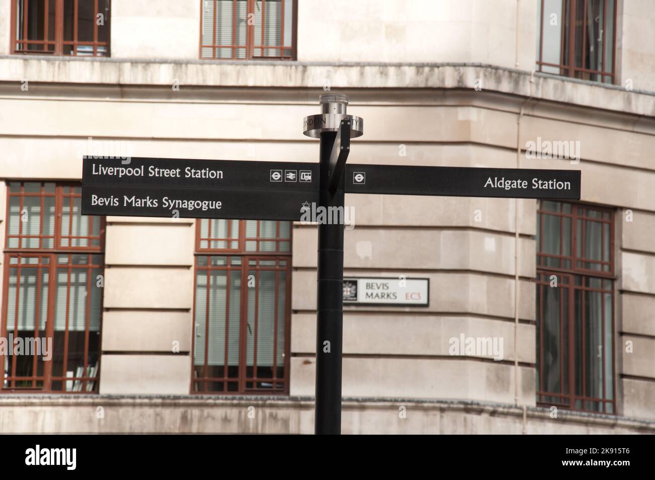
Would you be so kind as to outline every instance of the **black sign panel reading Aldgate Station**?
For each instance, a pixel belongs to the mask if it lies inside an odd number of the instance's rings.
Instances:
[[[346,164],[346,193],[580,200],[580,170]]]

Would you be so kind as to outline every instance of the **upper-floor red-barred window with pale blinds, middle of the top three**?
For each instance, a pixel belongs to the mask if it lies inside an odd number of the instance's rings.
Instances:
[[[295,58],[294,0],[201,0],[200,58]]]

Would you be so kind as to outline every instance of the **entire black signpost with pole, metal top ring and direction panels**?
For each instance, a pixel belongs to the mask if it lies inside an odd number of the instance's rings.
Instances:
[[[341,208],[346,193],[580,199],[579,170],[347,164],[348,98],[320,98],[305,118],[319,162],[84,157],[83,215],[301,221],[312,206]],[[310,219],[314,221],[314,219]],[[343,223],[318,221],[316,434],[341,433]]]

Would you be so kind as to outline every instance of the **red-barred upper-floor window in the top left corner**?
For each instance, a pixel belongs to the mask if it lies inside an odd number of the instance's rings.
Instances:
[[[11,52],[109,56],[109,0],[11,2]]]

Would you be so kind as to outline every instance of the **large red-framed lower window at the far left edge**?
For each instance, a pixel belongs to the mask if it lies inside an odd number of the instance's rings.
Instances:
[[[7,187],[3,390],[97,392],[104,219],[81,215],[76,185]]]

